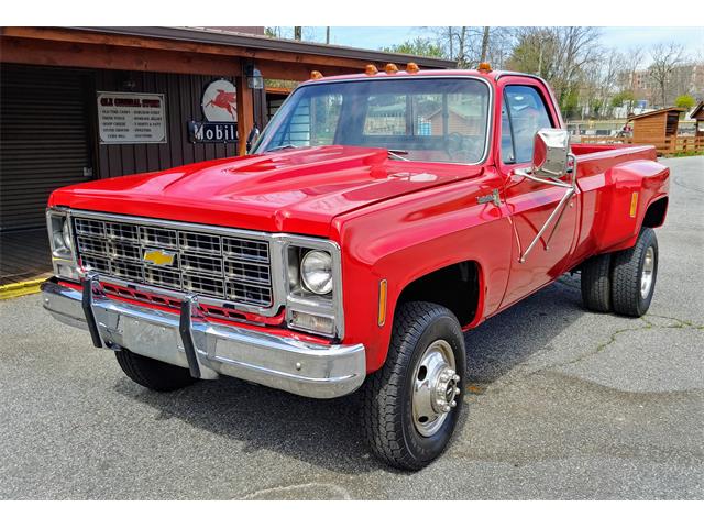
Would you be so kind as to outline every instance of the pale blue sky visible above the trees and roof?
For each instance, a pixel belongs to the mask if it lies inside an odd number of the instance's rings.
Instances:
[[[317,41],[324,41],[324,28],[306,28],[305,31],[306,35],[314,34]],[[378,50],[416,36],[432,36],[432,30],[418,26],[332,26],[330,35],[331,44]],[[622,52],[671,41],[684,45],[690,54],[704,54],[704,28],[602,28],[603,45]]]

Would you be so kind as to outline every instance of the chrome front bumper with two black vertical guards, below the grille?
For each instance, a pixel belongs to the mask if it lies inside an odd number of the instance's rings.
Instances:
[[[222,374],[300,396],[334,398],[359,388],[366,372],[362,344],[323,345],[211,323],[199,316],[196,296],[187,296],[176,315],[111,299],[94,276],[82,292],[45,282],[42,302],[55,319],[88,330],[98,348],[124,348],[204,380]]]

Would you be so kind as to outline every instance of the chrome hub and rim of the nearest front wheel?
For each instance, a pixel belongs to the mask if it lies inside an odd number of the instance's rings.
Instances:
[[[459,382],[452,346],[442,339],[432,342],[414,372],[413,416],[420,435],[435,435],[457,407]]]

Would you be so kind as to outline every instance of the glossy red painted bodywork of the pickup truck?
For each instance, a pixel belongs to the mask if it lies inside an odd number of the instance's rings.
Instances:
[[[398,296],[413,280],[475,262],[480,299],[466,326],[473,328],[585,258],[631,246],[648,207],[667,196],[669,169],[656,162],[654,147],[573,145],[579,189],[572,206],[550,250],[539,244],[520,264],[520,249],[564,191],[513,174],[526,164],[502,163],[502,90],[507,84],[535,86],[553,122],[563,125],[550,90],[541,80],[519,75],[415,74],[433,75],[483,76],[492,84],[494,125],[482,165],[389,160],[384,148],[309,147],[65,187],[52,195],[50,206],[334,240],[342,249],[343,341],[365,345],[367,371],[373,372],[386,359]],[[501,207],[480,205],[477,197],[493,189],[499,190]],[[388,307],[380,328],[382,278],[388,282]]]

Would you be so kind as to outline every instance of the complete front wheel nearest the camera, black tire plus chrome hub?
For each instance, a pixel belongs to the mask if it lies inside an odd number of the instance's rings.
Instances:
[[[462,407],[465,364],[450,310],[431,302],[397,309],[386,363],[363,389],[364,431],[377,458],[415,471],[444,451]]]

